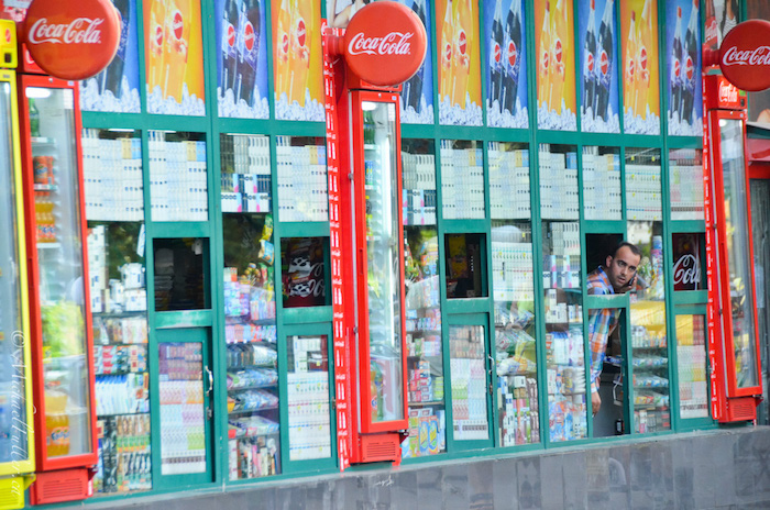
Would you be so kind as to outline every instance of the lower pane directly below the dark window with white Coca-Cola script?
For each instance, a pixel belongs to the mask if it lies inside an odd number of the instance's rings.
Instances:
[[[676,315],[679,415],[682,419],[708,418],[705,323],[704,315]]]

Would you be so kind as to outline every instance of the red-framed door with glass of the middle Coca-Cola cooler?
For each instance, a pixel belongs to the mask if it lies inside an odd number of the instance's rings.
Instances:
[[[361,432],[397,432],[407,429],[398,96],[353,98]]]

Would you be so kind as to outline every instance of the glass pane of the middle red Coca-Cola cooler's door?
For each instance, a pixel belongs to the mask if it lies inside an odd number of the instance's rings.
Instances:
[[[362,409],[364,432],[392,430],[385,422],[405,420],[404,406],[404,323],[399,181],[396,132],[396,103],[362,101],[364,152],[365,300],[360,313],[366,313],[369,337],[367,406]],[[361,213],[361,212],[360,212]],[[362,219],[359,218],[359,221]],[[361,223],[360,223],[361,225]],[[362,232],[362,229],[359,229]],[[366,310],[366,312],[363,312]],[[365,367],[365,368],[364,368]],[[380,425],[380,426],[377,426]]]

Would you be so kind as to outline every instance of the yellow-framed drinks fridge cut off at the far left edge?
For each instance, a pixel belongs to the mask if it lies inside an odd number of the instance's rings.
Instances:
[[[24,507],[34,478],[26,247],[22,206],[15,27],[0,20],[0,509]]]

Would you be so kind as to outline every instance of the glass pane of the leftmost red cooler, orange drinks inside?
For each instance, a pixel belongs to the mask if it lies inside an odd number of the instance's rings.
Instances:
[[[44,402],[37,407],[43,403],[43,458],[63,459],[94,452],[75,91],[26,87],[24,92],[42,336],[43,396],[37,398]]]

